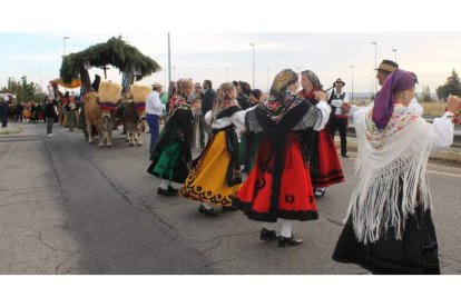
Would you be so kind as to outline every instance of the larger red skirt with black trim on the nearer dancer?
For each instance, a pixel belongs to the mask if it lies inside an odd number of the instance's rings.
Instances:
[[[286,136],[281,172],[274,171],[275,157],[267,167],[261,161],[271,155],[269,139],[259,143],[257,160],[245,180],[233,205],[243,210],[249,219],[276,221],[277,218],[311,220],[317,219],[317,206],[311,185],[310,168],[303,159],[296,133]]]

